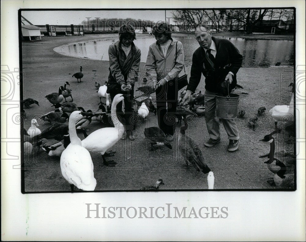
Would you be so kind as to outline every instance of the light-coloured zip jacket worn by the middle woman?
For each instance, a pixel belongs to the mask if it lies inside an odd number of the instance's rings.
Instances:
[[[162,53],[162,49],[157,42],[154,42],[150,45],[146,70],[147,75],[151,80],[161,80],[165,78],[170,81],[176,77],[183,69],[184,64],[184,50],[181,42],[172,39],[172,43],[170,44],[166,58]],[[175,61],[175,49],[177,44],[177,54]]]

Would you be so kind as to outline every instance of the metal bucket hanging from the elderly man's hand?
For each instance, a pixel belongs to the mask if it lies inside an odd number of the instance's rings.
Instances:
[[[218,118],[234,119],[237,117],[239,104],[239,95],[230,93],[225,97],[222,94],[216,94],[216,114]]]

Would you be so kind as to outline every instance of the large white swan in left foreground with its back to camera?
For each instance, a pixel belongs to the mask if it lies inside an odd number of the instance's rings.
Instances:
[[[70,115],[70,144],[63,150],[60,159],[62,175],[71,184],[72,192],[74,186],[84,191],[93,191],[97,185],[90,153],[82,146],[81,140],[76,134],[76,121],[82,117],[81,111],[73,111]]]

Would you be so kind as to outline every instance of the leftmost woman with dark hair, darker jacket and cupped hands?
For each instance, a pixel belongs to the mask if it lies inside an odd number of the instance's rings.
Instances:
[[[118,93],[128,94],[124,99],[125,112],[122,112],[122,102],[117,105],[117,116],[125,117],[125,131],[129,139],[134,140],[132,114],[134,109],[134,84],[138,79],[140,66],[140,49],[134,45],[136,39],[134,27],[124,24],[119,30],[119,41],[110,45],[108,55],[110,59],[110,74],[108,76],[107,93],[113,101]],[[124,134],[123,139],[125,139]]]

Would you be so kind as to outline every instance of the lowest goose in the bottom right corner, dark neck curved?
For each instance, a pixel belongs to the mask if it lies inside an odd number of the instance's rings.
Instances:
[[[280,170],[275,173],[273,178],[276,187],[285,189],[294,188],[294,173],[286,173],[287,167],[284,163],[278,161],[276,164],[280,167]]]

